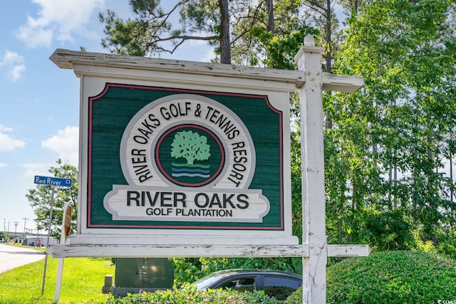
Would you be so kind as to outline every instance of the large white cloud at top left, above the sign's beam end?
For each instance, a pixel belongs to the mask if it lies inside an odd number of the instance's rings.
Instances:
[[[105,0],[33,0],[38,16],[28,16],[27,23],[16,30],[16,38],[28,48],[50,46],[54,37],[73,41],[75,33],[85,33],[86,23],[96,9],[103,9]]]

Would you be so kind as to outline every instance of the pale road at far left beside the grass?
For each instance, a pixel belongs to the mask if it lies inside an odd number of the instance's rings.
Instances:
[[[9,246],[0,243],[0,273],[13,268],[40,261],[45,253],[36,251],[26,246]]]

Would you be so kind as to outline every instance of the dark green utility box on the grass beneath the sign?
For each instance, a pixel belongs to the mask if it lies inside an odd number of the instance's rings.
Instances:
[[[116,258],[113,295],[172,289],[174,266],[167,258]]]

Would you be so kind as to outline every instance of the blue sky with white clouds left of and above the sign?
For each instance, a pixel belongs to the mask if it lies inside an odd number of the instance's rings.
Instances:
[[[48,58],[56,48],[108,53],[98,21],[106,9],[130,16],[128,0],[16,0],[0,10],[0,231],[26,226],[36,233],[25,196],[35,187],[33,177],[49,176],[59,158],[78,166],[79,79]],[[161,56],[213,57],[210,48],[191,42]]]

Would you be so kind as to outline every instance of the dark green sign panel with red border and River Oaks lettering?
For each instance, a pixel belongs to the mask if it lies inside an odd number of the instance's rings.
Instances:
[[[284,230],[266,95],[107,84],[88,100],[87,227]]]

